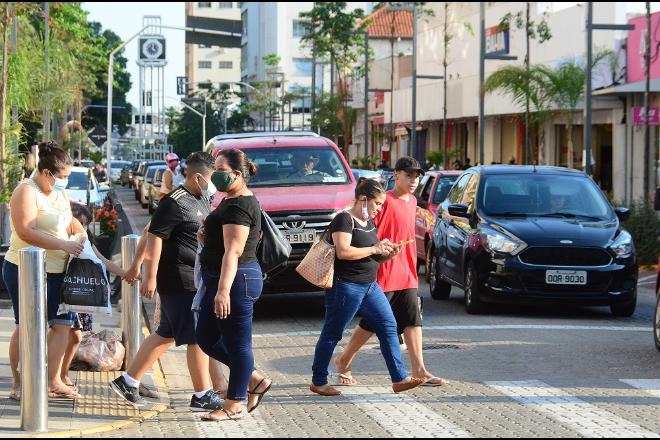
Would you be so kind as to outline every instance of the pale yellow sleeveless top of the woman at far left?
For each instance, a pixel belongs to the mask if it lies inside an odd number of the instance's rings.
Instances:
[[[62,240],[68,240],[69,233],[67,228],[71,224],[73,216],[71,215],[71,205],[64,191],[55,192],[55,199],[49,200],[41,192],[39,185],[32,179],[23,180],[20,185],[29,185],[34,188],[37,198],[37,229],[53,237]],[[18,251],[32,246],[18,236],[14,228],[14,222],[10,220],[11,238],[9,239],[9,250],[5,260],[18,265]],[[66,270],[66,263],[69,260],[69,254],[59,249],[46,249],[46,272],[63,273]]]

